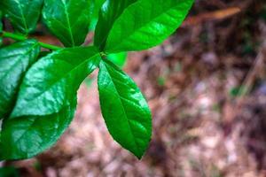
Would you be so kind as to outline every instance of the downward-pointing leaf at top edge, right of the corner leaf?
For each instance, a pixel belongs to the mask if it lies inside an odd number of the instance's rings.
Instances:
[[[44,0],[43,20],[66,47],[81,45],[90,27],[93,0]]]

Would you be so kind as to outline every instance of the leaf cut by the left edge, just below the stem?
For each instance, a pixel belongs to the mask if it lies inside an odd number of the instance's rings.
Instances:
[[[12,112],[22,77],[39,51],[35,40],[14,43],[0,50],[0,119]]]

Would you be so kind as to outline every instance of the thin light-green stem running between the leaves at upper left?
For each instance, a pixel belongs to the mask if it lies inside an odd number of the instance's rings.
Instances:
[[[5,38],[11,38],[15,41],[25,41],[27,40],[27,36],[25,35],[18,35],[18,34],[12,34],[9,32],[5,32],[3,31],[2,36]],[[39,42],[40,46],[42,46],[45,49],[49,49],[49,50],[60,50],[62,48],[56,46],[56,45],[51,45],[49,43],[43,43],[43,42]]]

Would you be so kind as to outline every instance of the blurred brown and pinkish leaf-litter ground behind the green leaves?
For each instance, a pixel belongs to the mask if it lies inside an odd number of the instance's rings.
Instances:
[[[36,158],[4,162],[12,166],[4,176],[266,176],[265,1],[196,0],[161,46],[112,60],[137,81],[153,112],[145,157],[137,160],[108,134],[96,72],[82,84],[59,142]]]

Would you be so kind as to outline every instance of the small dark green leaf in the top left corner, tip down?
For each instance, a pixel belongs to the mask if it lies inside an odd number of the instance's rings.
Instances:
[[[1,0],[0,6],[11,20],[12,26],[27,35],[35,30],[43,0]]]

